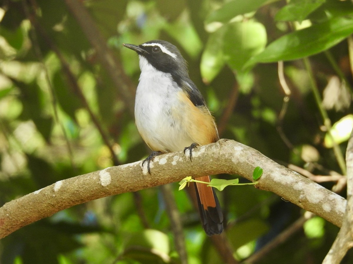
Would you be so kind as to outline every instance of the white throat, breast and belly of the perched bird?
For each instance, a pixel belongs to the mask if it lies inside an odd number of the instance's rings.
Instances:
[[[187,128],[183,127],[183,120],[175,118],[175,109],[183,111],[176,96],[181,88],[172,81],[170,74],[156,70],[142,56],[140,68],[135,120],[142,138],[157,151],[173,152],[190,146],[193,142]]]

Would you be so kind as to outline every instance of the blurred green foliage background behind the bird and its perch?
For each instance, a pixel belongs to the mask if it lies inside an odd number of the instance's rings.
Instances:
[[[133,119],[138,57],[122,43],[152,39],[178,46],[222,138],[345,196],[352,1],[1,0],[0,7],[0,205],[148,155]],[[187,193],[172,190],[189,263],[226,262]],[[228,263],[261,252],[304,214],[251,186],[218,195],[224,246],[235,258]],[[253,261],[321,263],[339,228],[319,217],[304,222]],[[180,263],[171,229],[160,188],[150,188],[21,228],[0,241],[0,263]],[[350,251],[343,263],[352,258]]]

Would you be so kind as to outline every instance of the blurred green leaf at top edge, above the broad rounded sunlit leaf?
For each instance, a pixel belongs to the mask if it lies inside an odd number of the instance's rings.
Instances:
[[[220,9],[211,13],[205,23],[208,24],[214,21],[227,22],[237,15],[256,11],[259,7],[276,1],[278,0],[234,0],[227,2]]]

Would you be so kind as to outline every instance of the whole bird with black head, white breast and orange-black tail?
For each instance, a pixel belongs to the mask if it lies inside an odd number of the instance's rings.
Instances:
[[[157,155],[189,150],[191,159],[193,148],[219,140],[215,120],[176,46],[164,40],[123,45],[139,57],[134,115],[138,132],[152,150],[142,163],[147,163],[149,172]],[[210,176],[195,179],[210,182]],[[194,184],[206,234],[222,233],[223,214],[214,188]]]

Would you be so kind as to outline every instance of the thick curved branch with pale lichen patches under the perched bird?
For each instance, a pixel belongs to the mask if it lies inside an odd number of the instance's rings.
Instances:
[[[113,166],[101,171],[68,178],[5,203],[0,208],[0,238],[62,209],[101,197],[177,182],[186,176],[238,174],[252,180],[252,172],[261,166],[264,173],[256,188],[268,190],[341,226],[346,200],[315,182],[285,168],[260,152],[234,140],[193,150],[190,161],[183,151],[157,156],[148,174],[142,162]]]

